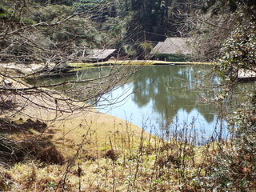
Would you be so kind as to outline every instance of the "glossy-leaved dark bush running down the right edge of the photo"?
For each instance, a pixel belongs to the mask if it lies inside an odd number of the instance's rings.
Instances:
[[[223,93],[219,105],[233,103],[234,91],[238,92],[238,74],[256,72],[256,30],[255,1],[208,1],[218,13],[222,5],[228,4],[230,11],[238,18],[237,25],[226,39],[216,60],[219,74],[222,75]],[[216,5],[217,3],[217,5]],[[240,85],[242,86],[242,85]],[[256,161],[256,111],[255,83],[251,90],[239,93],[243,102],[228,115],[230,141],[227,145],[218,145],[214,166],[208,186],[212,190],[253,191]],[[211,183],[211,184],[210,184]]]

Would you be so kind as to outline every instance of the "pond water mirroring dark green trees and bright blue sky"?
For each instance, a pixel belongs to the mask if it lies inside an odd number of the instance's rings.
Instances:
[[[211,134],[218,125],[218,107],[212,101],[219,91],[214,88],[218,85],[218,78],[210,77],[212,68],[146,66],[134,74],[126,85],[106,97],[118,98],[123,90],[126,90],[124,98],[130,96],[118,106],[105,107],[101,111],[141,127],[148,119],[158,130],[169,127],[177,120],[180,125],[194,121],[198,130]]]

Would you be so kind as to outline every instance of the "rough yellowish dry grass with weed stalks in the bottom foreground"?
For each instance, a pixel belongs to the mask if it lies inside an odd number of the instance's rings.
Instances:
[[[187,145],[187,152],[177,156],[184,147],[134,135],[115,142],[110,138],[106,147],[94,151],[84,143],[77,158],[63,166],[32,161],[1,172],[17,191],[199,191],[196,178],[208,162],[200,167],[202,162],[193,160],[197,149]]]

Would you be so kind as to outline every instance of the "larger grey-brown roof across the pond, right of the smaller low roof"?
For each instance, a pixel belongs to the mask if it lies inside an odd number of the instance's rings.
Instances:
[[[150,54],[192,54],[190,38],[166,38],[151,50]]]

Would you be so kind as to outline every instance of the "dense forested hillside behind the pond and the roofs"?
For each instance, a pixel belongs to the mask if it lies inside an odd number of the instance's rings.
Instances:
[[[242,19],[238,4],[194,0],[2,0],[1,60],[82,61],[92,48],[122,48],[132,57],[142,55],[149,47],[145,42],[155,46],[167,37],[193,38],[195,59],[212,60]]]

